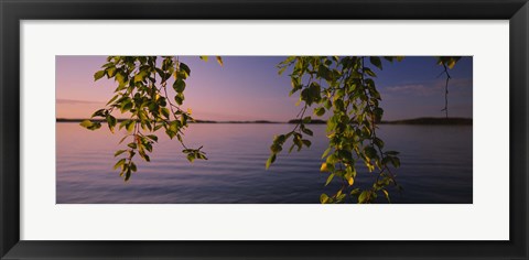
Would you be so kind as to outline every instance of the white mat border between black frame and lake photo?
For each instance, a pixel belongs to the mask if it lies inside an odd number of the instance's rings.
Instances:
[[[508,21],[23,21],[21,239],[508,240]],[[142,32],[156,40],[134,36]],[[55,55],[127,54],[473,55],[474,204],[55,205]]]

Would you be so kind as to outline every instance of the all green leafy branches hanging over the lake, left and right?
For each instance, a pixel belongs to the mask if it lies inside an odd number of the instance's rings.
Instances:
[[[207,61],[207,56],[201,56]],[[377,90],[377,71],[382,69],[382,59],[390,63],[402,61],[402,56],[290,56],[278,65],[279,74],[291,69],[292,89],[290,95],[299,93],[300,104],[303,104],[296,124],[292,131],[276,136],[270,147],[271,154],[266,167],[277,160],[283,145],[292,142],[289,153],[294,149],[300,151],[310,148],[313,132],[307,127],[313,117],[327,115],[326,137],[328,148],[322,154],[324,162],[320,171],[327,173],[328,185],[338,181],[341,187],[334,194],[322,194],[321,203],[374,203],[384,196],[390,202],[388,187],[401,186],[397,183],[392,170],[400,166],[399,152],[385,149],[385,142],[377,137],[377,124],[381,121],[384,110],[379,106],[381,96]],[[450,82],[449,68],[452,68],[461,57],[436,57],[438,64]],[[216,57],[223,65],[223,59]],[[163,130],[171,139],[175,138],[182,144],[182,152],[190,162],[196,159],[207,160],[201,148],[190,149],[183,140],[183,131],[193,121],[190,111],[181,106],[185,99],[184,90],[191,68],[177,57],[162,56],[109,56],[102,69],[94,75],[98,80],[102,77],[114,78],[117,87],[115,96],[106,107],[97,110],[90,120],[80,123],[89,130],[101,128],[101,119],[107,122],[111,132],[115,128],[126,129],[127,134],[120,143],[128,140],[127,147],[118,150],[115,156],[120,156],[115,169],[128,181],[137,165],[132,161],[139,154],[144,161],[150,161],[152,145],[158,142],[153,134]],[[174,89],[174,95],[168,94],[168,85]],[[114,111],[128,115],[118,122]],[[310,113],[310,115],[309,115]],[[96,119],[96,120],[95,120]],[[366,167],[373,175],[373,183],[358,184],[356,176],[359,167]]]

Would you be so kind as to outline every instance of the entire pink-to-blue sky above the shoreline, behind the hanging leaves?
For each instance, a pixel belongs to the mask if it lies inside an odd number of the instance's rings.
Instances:
[[[301,107],[295,106],[299,96],[289,97],[288,73],[278,75],[277,65],[284,58],[223,56],[220,66],[213,57],[204,62],[198,56],[180,56],[191,67],[183,107],[191,108],[193,117],[201,120],[293,119]],[[114,79],[94,82],[94,73],[106,63],[106,56],[56,56],[55,62],[57,118],[89,118],[114,97]],[[443,67],[434,57],[408,56],[392,64],[384,61],[382,67],[373,68],[382,98],[382,120],[444,117],[445,76],[440,76]],[[472,57],[463,57],[449,73],[449,116],[472,118]]]

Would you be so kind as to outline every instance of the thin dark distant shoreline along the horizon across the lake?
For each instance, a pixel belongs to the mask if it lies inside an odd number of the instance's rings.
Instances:
[[[82,122],[86,119],[69,119],[69,118],[57,118],[56,122]],[[118,122],[126,119],[118,119]],[[105,120],[94,120],[98,122],[105,122]],[[255,121],[214,121],[214,120],[195,120],[191,123],[298,123],[300,120],[292,119],[288,122],[278,122],[278,121],[268,121],[268,120],[255,120]],[[313,119],[307,124],[324,124],[326,121],[320,119]],[[421,126],[472,126],[472,118],[413,118],[413,119],[401,119],[392,121],[381,121],[379,124],[421,124]]]

